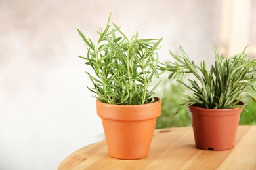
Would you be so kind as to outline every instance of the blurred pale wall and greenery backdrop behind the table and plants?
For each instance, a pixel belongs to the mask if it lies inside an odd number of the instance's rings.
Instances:
[[[77,57],[87,47],[76,29],[95,42],[110,12],[129,37],[163,37],[162,62],[179,45],[208,65],[214,46],[231,56],[249,44],[249,57],[256,54],[252,0],[0,0],[0,169],[56,169],[75,150],[104,139],[86,88],[91,69]],[[161,87],[156,128],[190,126],[186,110],[173,117],[182,88],[165,78]],[[244,124],[256,124],[255,114],[246,114]]]

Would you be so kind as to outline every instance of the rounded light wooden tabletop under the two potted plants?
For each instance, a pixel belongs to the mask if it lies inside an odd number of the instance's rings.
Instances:
[[[195,148],[192,127],[158,129],[140,160],[112,158],[100,141],[70,154],[58,169],[256,169],[256,126],[239,126],[234,148],[225,151]]]

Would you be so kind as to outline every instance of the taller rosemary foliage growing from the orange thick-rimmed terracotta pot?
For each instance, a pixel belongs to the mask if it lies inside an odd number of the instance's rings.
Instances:
[[[110,17],[111,14],[106,28],[99,29],[96,44],[77,29],[88,46],[87,56],[79,57],[85,59],[85,64],[95,73],[86,72],[93,82],[93,88],[87,88],[104,103],[140,105],[154,102],[154,90],[160,80],[153,87],[150,85],[153,78],[159,78],[158,54],[154,51],[158,50],[161,39],[138,39],[138,32],[128,39],[116,24],[113,23],[114,29],[110,29]]]

